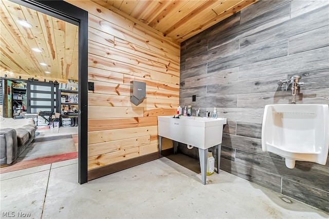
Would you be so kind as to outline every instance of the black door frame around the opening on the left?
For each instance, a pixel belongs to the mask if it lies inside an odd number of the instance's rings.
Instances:
[[[78,182],[88,181],[88,12],[64,1],[15,1],[65,22],[79,26],[79,176]]]

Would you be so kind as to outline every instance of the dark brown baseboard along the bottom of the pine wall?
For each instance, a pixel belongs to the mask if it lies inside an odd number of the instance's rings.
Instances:
[[[139,156],[132,158],[127,161],[118,162],[115,164],[110,164],[107,166],[99,167],[96,169],[88,170],[88,181],[95,180],[95,178],[99,178],[111,173],[115,173],[124,169],[128,169],[140,164],[144,164],[150,161],[157,160],[159,158],[159,152]]]

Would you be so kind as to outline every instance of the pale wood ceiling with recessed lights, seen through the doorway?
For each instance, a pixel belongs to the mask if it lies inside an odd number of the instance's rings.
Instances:
[[[2,76],[78,80],[78,26],[7,0],[1,0],[0,9]]]

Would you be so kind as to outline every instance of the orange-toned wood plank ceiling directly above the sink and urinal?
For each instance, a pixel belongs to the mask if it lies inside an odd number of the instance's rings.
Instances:
[[[178,42],[202,32],[257,0],[92,0],[129,14]]]

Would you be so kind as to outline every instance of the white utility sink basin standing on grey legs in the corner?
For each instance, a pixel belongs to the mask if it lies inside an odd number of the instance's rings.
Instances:
[[[162,137],[174,141],[174,152],[177,142],[197,147],[199,150],[202,182],[206,184],[208,148],[214,147],[217,152],[217,173],[220,170],[221,144],[223,125],[226,118],[207,118],[194,116],[158,116],[159,153]],[[176,143],[175,143],[176,142]]]

